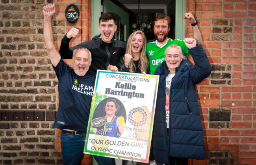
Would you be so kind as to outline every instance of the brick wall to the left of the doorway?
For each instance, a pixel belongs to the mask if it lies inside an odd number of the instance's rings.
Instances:
[[[53,29],[59,48],[71,27],[80,30],[77,42],[91,38],[91,2],[0,2],[0,164],[62,164],[60,132],[52,127],[58,108],[58,79],[45,49],[42,9],[56,4]],[[65,18],[69,4],[80,10],[74,24]],[[84,157],[81,164],[89,165],[91,157]]]

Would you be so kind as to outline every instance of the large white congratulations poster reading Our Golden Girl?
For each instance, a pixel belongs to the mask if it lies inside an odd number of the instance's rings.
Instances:
[[[98,70],[84,153],[147,163],[158,79]]]

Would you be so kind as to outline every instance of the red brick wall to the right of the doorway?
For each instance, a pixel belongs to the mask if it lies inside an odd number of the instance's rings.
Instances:
[[[212,66],[196,86],[207,160],[200,165],[256,163],[256,0],[186,0]],[[192,28],[187,24],[187,36]]]

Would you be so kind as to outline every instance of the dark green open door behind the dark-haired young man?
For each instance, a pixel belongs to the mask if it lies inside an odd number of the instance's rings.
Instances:
[[[129,14],[110,0],[102,0],[101,5],[103,6],[102,13],[113,13],[117,19],[117,31],[114,38],[126,42],[129,37]]]

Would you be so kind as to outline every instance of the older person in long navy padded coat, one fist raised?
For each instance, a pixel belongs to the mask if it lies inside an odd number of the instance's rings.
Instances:
[[[157,163],[184,165],[187,158],[206,159],[204,135],[195,84],[211,73],[202,46],[193,38],[184,42],[195,62],[185,60],[178,45],[165,50],[160,75],[154,124],[154,157]]]

